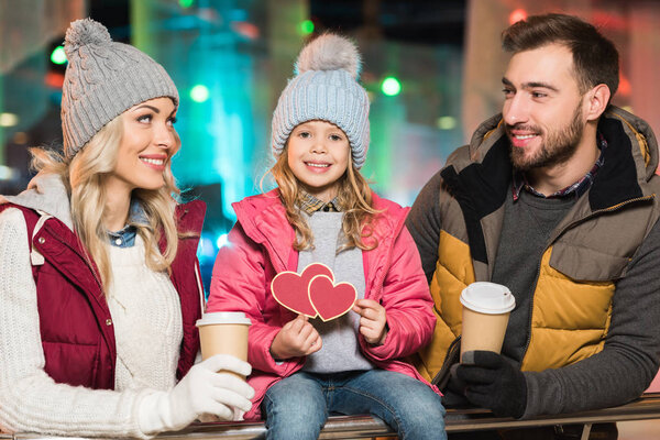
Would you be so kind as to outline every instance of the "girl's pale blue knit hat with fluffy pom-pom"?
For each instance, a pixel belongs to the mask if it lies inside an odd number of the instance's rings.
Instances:
[[[349,40],[323,34],[302,48],[273,113],[272,146],[279,156],[296,125],[322,120],[339,127],[351,144],[353,164],[369,148],[369,97],[358,78],[360,53]]]

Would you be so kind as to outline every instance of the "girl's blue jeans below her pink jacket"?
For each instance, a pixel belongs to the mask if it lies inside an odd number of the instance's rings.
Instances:
[[[444,407],[426,384],[384,370],[298,372],[273,385],[262,410],[266,439],[316,440],[331,414],[372,414],[404,440],[444,440]]]

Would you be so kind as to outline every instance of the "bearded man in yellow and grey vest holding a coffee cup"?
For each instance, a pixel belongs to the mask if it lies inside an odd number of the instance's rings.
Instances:
[[[407,221],[438,315],[418,369],[451,377],[448,405],[463,397],[498,415],[620,405],[660,360],[656,138],[609,106],[618,53],[591,24],[530,16],[503,46],[502,114],[448,158]],[[508,286],[516,308],[502,355],[472,352],[450,370],[459,296],[475,280]]]

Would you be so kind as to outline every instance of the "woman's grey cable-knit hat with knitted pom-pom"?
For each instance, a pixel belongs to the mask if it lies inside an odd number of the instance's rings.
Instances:
[[[68,66],[62,90],[64,153],[73,157],[108,122],[131,107],[178,92],[163,66],[138,48],[116,43],[106,26],[76,20],[64,43]]]

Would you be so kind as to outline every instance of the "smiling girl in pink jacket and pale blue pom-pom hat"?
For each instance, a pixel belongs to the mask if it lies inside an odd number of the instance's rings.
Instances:
[[[369,147],[359,65],[355,46],[337,35],[302,50],[273,117],[278,188],[234,204],[238,222],[213,268],[207,311],[252,320],[256,396],[245,418],[261,409],[268,439],[317,439],[330,414],[373,414],[403,439],[446,438],[437,389],[403,360],[435,326],[407,210],[359,172]],[[322,322],[274,299],[274,276],[310,263],[355,286],[352,311]]]

